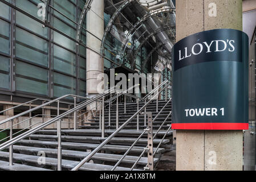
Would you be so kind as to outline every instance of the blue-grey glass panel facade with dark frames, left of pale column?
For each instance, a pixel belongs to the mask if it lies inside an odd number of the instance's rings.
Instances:
[[[52,0],[48,14],[50,26],[76,39],[85,1]],[[14,6],[42,20],[38,16],[38,4],[43,1],[14,2]],[[3,3],[0,3],[0,27],[0,90],[51,98],[64,94],[86,95],[83,46]],[[82,41],[86,43],[86,31],[82,32]]]

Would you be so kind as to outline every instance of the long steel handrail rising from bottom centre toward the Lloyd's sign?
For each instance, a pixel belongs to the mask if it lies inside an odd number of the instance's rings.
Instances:
[[[170,83],[167,84],[167,85],[164,87],[164,89],[165,89],[168,85],[170,85]],[[161,93],[164,89],[162,89],[159,93]],[[140,114],[141,111],[143,111],[143,110],[145,109],[145,107],[147,107],[149,104],[151,104],[151,102],[153,101],[153,98],[155,98],[156,96],[158,97],[159,94],[153,96],[153,97],[151,98],[151,100],[149,100],[143,107],[141,107],[141,109],[140,109],[139,111],[137,111],[135,114],[133,114],[133,116],[132,116],[131,118],[129,118],[126,122],[124,122],[124,124],[121,125],[121,126],[120,126],[114,133],[112,133],[107,139],[105,139],[104,142],[102,142],[98,147],[96,147],[95,150],[93,150],[93,151],[92,151],[86,158],[84,158],[79,164],[77,164],[77,165],[72,169],[72,171],[77,171],[80,167],[83,166],[83,164],[85,164],[86,162],[88,162],[88,160],[90,160],[90,159],[92,158],[92,156],[94,156],[98,151],[100,151],[101,148],[102,148],[103,146],[105,146],[105,144],[107,144],[113,137],[115,137],[121,130],[123,130],[124,127],[127,126],[128,123],[132,121],[132,119],[134,119],[138,114]],[[1,150],[1,148],[0,148],[0,150]]]

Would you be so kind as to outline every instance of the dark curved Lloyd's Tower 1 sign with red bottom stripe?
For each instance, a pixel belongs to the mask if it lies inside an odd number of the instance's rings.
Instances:
[[[173,47],[172,129],[247,130],[248,36],[218,29]]]

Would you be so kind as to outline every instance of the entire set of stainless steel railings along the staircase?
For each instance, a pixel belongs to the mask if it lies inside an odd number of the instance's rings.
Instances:
[[[128,90],[125,90],[124,92],[120,92],[120,91],[119,92],[115,92],[115,96],[114,97],[111,97],[111,95],[113,93],[112,91],[115,90],[115,88],[111,88],[109,90],[106,90],[103,93],[98,94],[97,96],[95,96],[94,98],[91,98],[91,99],[86,98],[86,97],[80,97],[80,96],[75,96],[75,95],[72,95],[72,94],[68,94],[66,96],[62,96],[62,97],[56,98],[55,100],[49,101],[47,103],[44,103],[44,104],[42,104],[40,106],[36,106],[34,108],[30,108],[30,110],[27,110],[27,111],[25,111],[25,112],[23,112],[21,114],[17,114],[17,115],[15,115],[13,117],[7,118],[7,119],[5,119],[5,120],[0,122],[0,125],[3,125],[5,123],[7,123],[7,122],[10,122],[10,127],[7,128],[7,129],[10,129],[10,137],[9,137],[10,140],[8,140],[5,143],[0,144],[0,151],[2,151],[5,148],[9,147],[9,155],[10,155],[9,156],[9,164],[10,164],[10,166],[12,166],[13,165],[13,144],[19,142],[22,139],[28,138],[30,135],[35,134],[39,130],[42,130],[45,127],[47,127],[47,126],[51,125],[52,123],[56,122],[57,123],[57,136],[58,136],[58,170],[60,171],[60,170],[62,170],[62,147],[61,147],[62,146],[62,135],[61,135],[61,133],[62,133],[62,123],[64,123],[63,119],[65,117],[70,118],[71,117],[70,115],[74,113],[74,130],[76,130],[76,127],[78,126],[78,124],[82,122],[82,121],[80,121],[80,122],[76,121],[76,119],[82,115],[81,114],[81,115],[78,116],[77,115],[78,111],[83,110],[84,108],[86,108],[88,106],[91,106],[95,102],[99,102],[99,105],[96,104],[96,106],[94,108],[91,107],[91,110],[88,110],[87,112],[91,111],[92,115],[94,115],[94,109],[99,108],[99,110],[96,109],[97,110],[96,113],[100,113],[100,116],[99,116],[99,118],[100,118],[100,122],[99,122],[100,128],[99,129],[101,130],[101,137],[104,138],[104,134],[105,134],[104,109],[107,106],[109,106],[109,126],[110,126],[110,106],[111,106],[111,104],[113,102],[116,101],[116,107],[117,107],[117,111],[116,111],[116,131],[111,136],[109,136],[107,139],[105,139],[103,141],[103,143],[101,143],[98,147],[96,147],[94,151],[92,151],[86,158],[84,158],[82,160],[82,162],[80,162],[76,167],[74,167],[72,169],[72,171],[76,171],[80,167],[82,167],[84,163],[88,162],[88,160],[90,160],[92,158],[92,156],[94,156],[99,150],[101,150],[101,148],[103,146],[105,146],[105,144],[107,144],[109,142],[109,140],[111,140],[113,137],[115,137],[115,135],[119,134],[119,132],[121,130],[123,130],[124,127],[127,126],[129,122],[131,122],[135,117],[139,118],[139,114],[142,111],[145,112],[145,113],[143,113],[145,115],[150,114],[150,113],[146,112],[147,111],[146,110],[147,106],[149,104],[151,104],[151,102],[153,100],[155,100],[155,99],[157,100],[157,103],[158,103],[158,99],[157,98],[159,97],[159,94],[164,89],[168,88],[169,85],[170,85],[170,83],[168,81],[163,82],[157,88],[153,89],[149,94],[147,94],[147,96],[145,96],[144,98],[133,96],[132,94],[128,94],[127,93],[129,89],[135,88],[135,86],[136,86],[135,85],[132,88],[129,88]],[[164,88],[162,88],[161,91],[159,91],[159,89],[162,86]],[[156,94],[155,94],[155,92],[156,92]],[[124,102],[124,113],[126,113],[126,108],[127,108],[127,106],[126,106],[127,105],[127,103],[126,103],[127,97],[131,97],[131,98],[134,98],[134,99],[137,100],[137,112],[135,114],[133,114],[131,118],[129,118],[126,122],[123,123],[123,125],[121,125],[119,127],[119,119],[118,119],[119,118],[119,109],[118,109],[118,106],[119,106],[119,97],[120,96],[124,96],[124,100],[125,100],[125,102]],[[66,98],[66,97],[74,97],[74,108],[64,112],[63,114],[60,114],[60,112],[59,112],[60,111],[59,105],[61,103],[60,100],[62,100],[63,98]],[[105,98],[107,98],[107,97],[110,97],[110,98],[108,100],[105,100]],[[151,97],[151,98],[150,98],[150,100],[147,101],[147,99],[149,97]],[[76,98],[84,98],[84,99],[86,99],[86,101],[83,101],[83,102],[81,102],[80,104],[77,105]],[[143,101],[143,102],[145,101],[145,105],[142,106],[140,109],[139,109],[139,101]],[[32,111],[35,111],[35,110],[38,110],[38,109],[42,109],[44,106],[51,105],[51,104],[53,104],[55,102],[57,102],[57,110],[58,110],[58,113],[57,113],[56,117],[49,118],[49,120],[46,121],[46,122],[44,122],[44,121],[36,122],[33,125],[31,125],[31,122],[30,122],[29,127],[26,127],[25,129],[19,131],[18,133],[15,133],[15,134],[13,133],[13,127],[14,126],[17,126],[18,124],[21,124],[21,123],[26,122],[26,121],[31,121],[32,118],[39,116],[39,115],[35,115],[34,117],[32,117],[31,116],[31,112]],[[162,110],[165,109],[165,107],[169,104],[169,102],[170,101],[168,101],[168,103],[162,108]],[[106,105],[106,104],[108,104],[108,105]],[[23,105],[26,105],[26,104],[23,104]],[[157,117],[159,117],[159,115],[162,113],[162,110],[160,111],[160,113],[158,113],[156,115],[155,119]],[[30,117],[28,119],[25,119],[24,121],[21,121],[21,122],[19,122],[19,123],[14,125],[14,123],[13,123],[14,119],[22,117],[23,115],[26,115],[26,114],[30,114]],[[85,114],[85,113],[83,113],[83,114]],[[43,114],[42,114],[42,116],[43,116]],[[44,116],[46,116],[46,115],[44,115]],[[168,115],[168,117],[169,117],[169,115]],[[151,115],[151,119],[152,119],[152,115]],[[153,121],[155,121],[155,119]],[[164,125],[164,123],[162,123],[162,125],[160,126],[160,129]],[[36,126],[36,125],[39,125],[39,126]],[[32,128],[32,127],[34,127],[34,128]],[[7,130],[7,129],[5,129],[5,130]],[[25,133],[22,133],[22,131],[25,131],[27,129],[29,129],[29,131],[26,131]],[[157,133],[160,131],[160,129],[157,131]],[[139,131],[139,119],[137,119],[137,130]],[[145,129],[141,133],[139,138],[137,138],[135,140],[135,142],[132,144],[132,146],[129,147],[129,149],[125,152],[125,154],[122,156],[122,158],[116,163],[116,165],[112,168],[112,170],[115,170],[116,167],[119,166],[119,164],[122,162],[122,160],[125,158],[125,156],[127,156],[129,154],[129,152],[132,150],[132,148],[136,145],[137,142],[139,142],[139,140],[143,137],[143,135],[146,132],[150,133],[149,130],[152,130],[152,127],[148,126],[147,129]],[[168,133],[168,131],[166,132],[166,134]],[[17,135],[19,133],[22,133],[22,134],[20,134],[17,137],[13,138],[14,135]],[[164,138],[165,138],[165,136],[164,136]],[[152,136],[151,136],[151,138],[152,138]],[[5,138],[5,139],[7,139],[7,138]],[[164,140],[164,139],[162,139],[162,140]],[[152,142],[153,142],[153,138],[152,138]],[[161,141],[161,143],[162,143],[162,141]],[[160,147],[160,145],[159,145],[159,147]],[[147,148],[150,148],[150,147],[147,147]],[[133,167],[131,169],[133,169],[137,165],[137,163],[139,162],[140,158],[144,155],[145,151],[147,151],[147,148],[145,148],[143,154],[141,154],[141,156],[139,157],[139,159],[136,161],[136,163],[133,165]],[[153,151],[151,151],[151,152],[153,152]],[[155,154],[153,156],[155,156]],[[152,164],[152,163],[148,163],[148,164]]]

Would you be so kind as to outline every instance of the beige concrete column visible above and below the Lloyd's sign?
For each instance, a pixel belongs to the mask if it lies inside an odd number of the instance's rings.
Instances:
[[[210,3],[217,7],[216,17],[209,16]],[[242,30],[242,0],[179,0],[176,9],[177,41],[216,28]],[[243,133],[177,130],[176,153],[178,171],[242,170]]]

